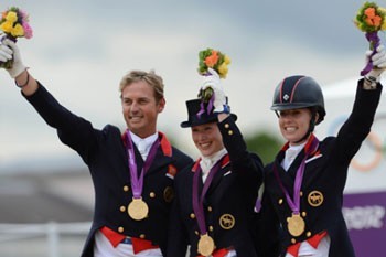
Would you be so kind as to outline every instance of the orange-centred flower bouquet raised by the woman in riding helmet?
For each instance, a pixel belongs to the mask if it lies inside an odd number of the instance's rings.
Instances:
[[[375,2],[365,2],[358,10],[354,23],[361,31],[366,33],[369,49],[375,54],[376,47],[378,47],[380,42],[378,31],[386,30],[386,9],[378,7]],[[373,64],[369,61],[366,67],[361,71],[361,75],[366,75],[372,68]]]

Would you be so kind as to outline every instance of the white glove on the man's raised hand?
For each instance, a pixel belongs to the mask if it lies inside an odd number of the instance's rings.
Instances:
[[[9,39],[4,39],[0,44],[0,61],[7,62],[12,60],[12,55],[13,64],[11,68],[7,69],[7,72],[12,78],[15,78],[18,75],[24,72],[26,67],[21,61],[20,51],[17,44]]]

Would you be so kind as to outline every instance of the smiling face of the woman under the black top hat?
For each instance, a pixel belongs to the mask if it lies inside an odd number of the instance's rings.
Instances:
[[[203,157],[211,157],[224,148],[223,137],[216,122],[192,127],[192,138]]]

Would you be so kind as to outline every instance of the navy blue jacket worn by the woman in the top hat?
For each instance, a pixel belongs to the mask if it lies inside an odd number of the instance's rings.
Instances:
[[[216,248],[233,247],[238,257],[255,257],[254,206],[262,182],[262,163],[247,152],[243,136],[232,117],[218,124],[228,156],[213,178],[205,195],[204,215],[208,235]],[[192,203],[193,175],[199,162],[182,170],[175,179],[175,200],[171,213],[168,257],[197,256],[199,224]],[[199,192],[203,182],[200,178]]]

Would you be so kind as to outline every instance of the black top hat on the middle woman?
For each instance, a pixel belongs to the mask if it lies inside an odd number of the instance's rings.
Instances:
[[[214,107],[207,113],[207,103],[203,103],[201,99],[186,100],[187,120],[181,122],[182,128],[194,127],[203,124],[217,122],[217,114],[214,114]],[[203,110],[203,111],[202,111]],[[234,120],[237,116],[230,114]]]

